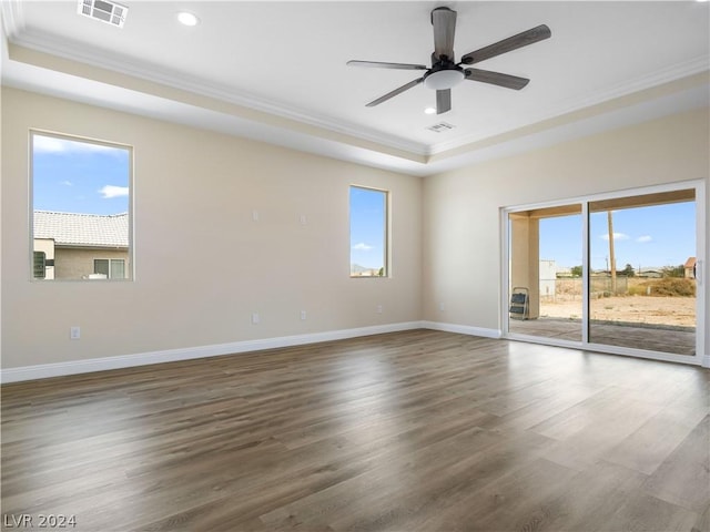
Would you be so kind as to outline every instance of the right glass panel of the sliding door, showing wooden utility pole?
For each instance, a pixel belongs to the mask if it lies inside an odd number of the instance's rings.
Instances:
[[[694,355],[694,191],[589,203],[589,341]]]

